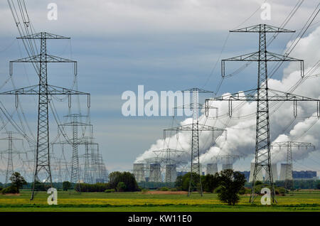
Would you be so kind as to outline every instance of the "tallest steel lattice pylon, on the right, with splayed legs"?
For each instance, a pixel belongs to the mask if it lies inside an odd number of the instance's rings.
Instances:
[[[271,53],[267,51],[267,33],[292,33],[284,28],[278,28],[267,24],[259,24],[256,26],[250,26],[246,28],[236,29],[230,32],[245,32],[245,33],[259,33],[259,50],[254,53],[248,53],[245,55],[239,55],[234,58],[228,58],[221,61],[221,73],[225,77],[225,62],[226,61],[257,61],[258,74],[257,74],[257,89],[248,90],[239,93],[224,95],[222,97],[215,97],[213,99],[207,99],[207,101],[213,100],[226,100],[229,102],[229,116],[232,117],[232,102],[233,101],[255,101],[257,102],[257,124],[256,124],[256,136],[255,136],[255,170],[252,180],[252,191],[250,195],[250,203],[255,200],[255,181],[258,173],[265,168],[267,175],[269,175],[269,183],[271,188],[272,203],[277,202],[274,198],[274,183],[271,170],[271,158],[270,158],[270,118],[269,118],[269,102],[294,102],[294,117],[297,117],[297,102],[298,101],[314,101],[317,102],[317,115],[320,117],[319,99],[312,99],[308,97],[302,97],[294,95],[288,92],[282,92],[272,90],[268,87],[268,74],[267,74],[267,62],[269,61],[298,61],[301,66],[301,75],[304,76],[304,61],[296,58],[291,58],[288,55],[279,55],[277,53]]]

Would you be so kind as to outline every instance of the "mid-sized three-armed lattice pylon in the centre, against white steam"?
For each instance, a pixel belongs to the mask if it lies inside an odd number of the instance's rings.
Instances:
[[[190,183],[188,188],[188,196],[191,195],[194,189],[198,189],[198,192],[203,195],[202,184],[201,184],[201,172],[200,172],[200,161],[199,161],[199,131],[212,131],[213,140],[214,132],[219,131],[220,134],[226,132],[225,129],[216,127],[210,127],[205,124],[199,124],[199,109],[206,109],[206,117],[208,116],[208,109],[217,109],[216,107],[209,107],[208,105],[199,104],[198,93],[212,93],[211,91],[202,90],[198,88],[191,88],[184,90],[183,92],[192,92],[193,102],[191,104],[183,105],[182,108],[192,109],[192,124],[186,124],[180,127],[173,127],[170,129],[164,129],[164,139],[166,139],[166,131],[176,131],[178,136],[179,131],[191,131],[191,170],[190,170]],[[178,107],[177,107],[178,108]],[[220,135],[219,135],[220,136]]]

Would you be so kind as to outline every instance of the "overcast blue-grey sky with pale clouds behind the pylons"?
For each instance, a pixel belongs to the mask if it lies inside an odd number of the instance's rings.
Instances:
[[[260,14],[262,4],[271,6],[271,20],[264,21]],[[132,170],[132,163],[145,151],[161,148],[163,129],[170,127],[172,117],[124,117],[121,109],[124,101],[123,92],[132,90],[137,93],[138,85],[148,90],[176,91],[199,87],[217,91],[220,82],[220,60],[235,55],[252,53],[257,50],[257,34],[230,33],[233,28],[268,23],[280,26],[298,1],[220,1],[220,0],[92,0],[92,1],[26,1],[28,14],[37,32],[47,31],[71,37],[65,41],[48,41],[48,51],[63,58],[78,60],[78,89],[90,92],[90,120],[94,128],[95,141],[100,144],[108,171]],[[58,20],[47,18],[48,4],[58,6]],[[304,1],[302,6],[285,28],[299,31],[306,23],[317,1]],[[9,78],[9,61],[23,58],[26,51],[21,41],[17,41],[18,31],[6,1],[0,3],[0,88],[1,91],[13,90],[36,84],[33,68],[26,64],[14,65],[14,85]],[[320,58],[319,48],[320,26],[319,16],[304,34],[304,38],[290,56],[303,58],[305,67],[310,68]],[[280,34],[268,46],[274,53],[283,53],[284,48],[292,41],[291,34]],[[228,72],[236,70],[240,64],[229,63]],[[298,65],[285,63],[275,73],[272,86],[285,91],[291,87],[297,77]],[[316,87],[317,78],[304,82],[296,91],[300,95],[319,97]],[[48,82],[60,87],[73,87],[72,65],[50,65]],[[2,85],[4,84],[4,85]],[[257,66],[250,65],[234,77],[223,80],[218,95],[227,92],[250,90],[257,84]],[[9,112],[14,111],[14,97],[0,97]],[[205,98],[205,97],[201,97]],[[28,118],[28,125],[36,131],[36,99],[21,97],[23,112]],[[77,111],[80,103],[82,114],[87,114],[86,99],[73,99],[73,111]],[[218,104],[218,103],[217,103]],[[225,110],[225,105],[221,111]],[[254,104],[246,103],[242,113],[254,112]],[[61,121],[68,114],[68,102],[56,102]],[[303,131],[308,120],[300,119],[288,127],[292,115],[289,106],[279,110],[272,117],[272,141],[294,138],[294,133]],[[301,107],[302,116],[313,114],[311,107]],[[239,113],[240,114],[240,113]],[[18,120],[18,115],[14,114]],[[85,120],[85,119],[84,119]],[[209,120],[210,121],[210,120]],[[188,122],[188,119],[176,117],[175,123]],[[230,127],[245,128],[254,124],[255,117],[248,120],[233,120]],[[215,124],[215,122],[208,122]],[[224,123],[223,120],[219,122]],[[219,124],[218,123],[218,124]],[[8,129],[10,125],[7,126]],[[286,129],[284,131],[284,129]],[[302,128],[302,129],[301,129]],[[319,131],[319,124],[312,129]],[[231,129],[232,130],[232,129]],[[235,163],[239,170],[250,170],[254,151],[254,129],[238,129],[228,131],[230,141],[219,141],[217,146],[203,143],[202,158],[206,154],[245,153],[245,160]],[[284,131],[284,132],[282,132]],[[312,131],[312,130],[311,130]],[[310,131],[310,133],[311,133]],[[316,133],[317,130],[312,131]],[[57,123],[50,115],[50,139],[57,135]],[[5,136],[5,134],[2,134]],[[206,140],[206,134],[203,139]],[[312,134],[311,134],[312,135]],[[311,136],[310,135],[310,136]],[[17,135],[18,136],[18,135]],[[181,140],[188,148],[188,135]],[[309,137],[309,135],[308,135]],[[182,139],[182,138],[181,138]],[[227,140],[228,140],[227,139]],[[305,137],[304,137],[305,139]],[[243,142],[240,142],[243,141]],[[316,137],[305,139],[318,144]],[[219,143],[220,142],[220,143]],[[231,144],[238,144],[232,146]],[[241,143],[241,144],[240,144]],[[223,145],[228,146],[224,149]],[[18,144],[17,144],[18,146]],[[230,147],[232,146],[232,148]],[[6,149],[6,142],[0,144]],[[237,152],[238,150],[238,152]],[[246,151],[244,151],[246,150]],[[83,149],[80,149],[82,154]],[[228,152],[229,153],[229,152]],[[282,154],[280,154],[282,156]],[[303,157],[302,157],[303,156]],[[297,156],[294,163],[296,170],[316,170],[318,174],[319,151],[309,155]],[[208,156],[207,156],[208,157]],[[298,158],[299,157],[299,158]],[[187,159],[187,156],[186,156]],[[279,161],[283,161],[279,158]],[[5,160],[1,160],[4,165]],[[4,166],[2,166],[4,169]],[[0,179],[1,180],[1,179]]]

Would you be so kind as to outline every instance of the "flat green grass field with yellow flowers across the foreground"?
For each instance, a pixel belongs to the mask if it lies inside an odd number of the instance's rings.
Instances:
[[[292,192],[286,196],[277,196],[277,204],[260,205],[257,198],[255,205],[249,203],[249,197],[242,195],[235,206],[228,206],[218,200],[216,194],[205,193],[203,197],[194,193],[188,198],[181,194],[149,193],[75,193],[58,192],[58,205],[48,205],[46,192],[38,192],[33,201],[30,191],[21,191],[16,195],[0,195],[0,211],[116,211],[116,212],[208,212],[208,211],[317,211],[320,212],[320,191]]]

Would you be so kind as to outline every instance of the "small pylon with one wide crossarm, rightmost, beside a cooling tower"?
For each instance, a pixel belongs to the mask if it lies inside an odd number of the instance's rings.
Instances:
[[[306,147],[308,149],[309,147],[316,148],[311,143],[306,142],[297,142],[297,141],[283,141],[283,142],[273,142],[272,147],[279,147],[280,149],[282,147],[287,147],[287,166],[286,166],[286,177],[284,180],[284,188],[289,188],[293,186],[293,176],[292,176],[292,147],[297,147],[298,149],[300,147]]]

